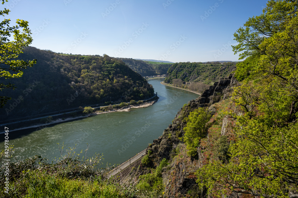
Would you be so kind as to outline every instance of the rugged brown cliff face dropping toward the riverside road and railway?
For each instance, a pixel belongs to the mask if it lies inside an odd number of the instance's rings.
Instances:
[[[201,195],[200,197],[206,195],[206,191],[201,191],[197,188],[198,185],[195,183],[194,172],[204,164],[206,158],[214,155],[214,148],[208,150],[208,144],[214,144],[212,142],[214,139],[220,137],[221,134],[226,135],[227,133],[225,130],[222,132],[222,129],[227,128],[230,120],[224,118],[226,120],[222,121],[220,126],[214,124],[215,119],[213,117],[217,115],[217,105],[215,103],[229,98],[233,86],[236,85],[238,85],[238,81],[233,75],[215,82],[202,96],[185,104],[177,113],[173,123],[164,130],[162,137],[153,140],[153,144],[148,146],[147,154],[149,150],[152,151],[150,151],[152,153],[150,158],[156,164],[159,164],[163,158],[166,158],[170,162],[170,170],[166,171],[166,169],[163,169],[162,173],[165,183],[165,197],[184,197],[186,193],[194,193],[196,196]],[[183,142],[183,128],[187,124],[185,118],[190,115],[191,111],[199,107],[208,107],[208,111],[214,115],[209,121],[209,126],[213,124],[216,127],[218,126],[218,129],[211,127],[208,130],[207,139],[210,138],[209,143],[205,146],[201,144],[198,147],[197,158],[191,159],[187,156],[186,146]],[[222,125],[224,126],[222,127]]]

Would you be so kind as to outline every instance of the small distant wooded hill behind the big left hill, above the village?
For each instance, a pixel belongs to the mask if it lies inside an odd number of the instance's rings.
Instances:
[[[171,64],[149,64],[142,60],[136,60],[132,58],[119,58],[125,64],[127,64],[132,70],[139,73],[143,77],[163,75],[167,73],[167,70]]]

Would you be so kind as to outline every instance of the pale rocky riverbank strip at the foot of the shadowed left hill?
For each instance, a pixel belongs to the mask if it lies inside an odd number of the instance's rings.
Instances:
[[[37,131],[37,130],[46,128],[47,126],[50,126],[50,125],[63,123],[63,122],[68,122],[68,121],[74,121],[74,120],[78,120],[78,119],[83,119],[83,118],[87,118],[87,117],[90,117],[90,116],[93,116],[93,115],[99,115],[99,114],[103,114],[103,113],[119,112],[119,111],[130,111],[132,108],[148,107],[150,105],[153,105],[157,101],[158,101],[158,98],[156,100],[153,100],[153,101],[150,101],[150,102],[144,102],[143,104],[128,105],[126,107],[122,107],[122,108],[115,109],[115,110],[104,111],[104,112],[96,111],[94,113],[89,113],[89,114],[86,114],[86,115],[79,115],[79,116],[76,116],[76,117],[58,118],[56,120],[51,121],[50,123],[38,123],[38,124],[31,125],[31,126],[24,126],[24,127],[20,127],[20,128],[17,128],[17,129],[11,129],[9,131],[13,132],[13,131],[19,131],[19,130],[24,130],[24,129],[32,129],[32,128],[35,128],[36,131]],[[2,133],[5,133],[5,132],[4,131],[0,132],[0,134],[2,134]]]

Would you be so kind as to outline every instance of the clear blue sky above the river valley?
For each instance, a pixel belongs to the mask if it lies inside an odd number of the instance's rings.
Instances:
[[[5,18],[12,23],[29,21],[31,46],[39,49],[199,62],[237,61],[233,34],[249,17],[262,14],[266,2],[9,0],[1,7],[11,10]]]

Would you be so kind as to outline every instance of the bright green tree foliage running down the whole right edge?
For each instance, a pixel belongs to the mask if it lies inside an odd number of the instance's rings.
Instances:
[[[197,171],[209,193],[298,197],[298,2],[270,0],[263,14],[234,34],[242,85],[232,100],[237,109],[236,142],[229,162],[214,159]]]

